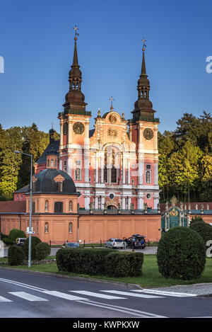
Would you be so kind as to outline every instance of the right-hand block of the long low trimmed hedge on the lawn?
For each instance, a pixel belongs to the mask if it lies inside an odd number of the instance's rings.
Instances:
[[[117,251],[105,257],[105,270],[110,277],[139,277],[142,265],[143,253]]]

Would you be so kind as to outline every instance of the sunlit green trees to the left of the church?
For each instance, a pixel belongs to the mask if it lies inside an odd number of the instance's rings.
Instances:
[[[30,183],[30,157],[13,151],[33,154],[34,164],[48,144],[49,133],[38,130],[35,123],[6,130],[0,124],[0,200],[13,199],[15,190]]]

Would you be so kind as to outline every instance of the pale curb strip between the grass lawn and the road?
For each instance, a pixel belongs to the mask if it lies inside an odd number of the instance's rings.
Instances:
[[[4,270],[9,271],[18,271],[18,272],[25,272],[25,273],[34,273],[36,275],[49,275],[50,277],[64,277],[67,279],[73,279],[73,280],[82,280],[82,281],[89,281],[89,282],[104,282],[105,284],[111,284],[111,285],[119,285],[126,288],[139,288],[139,290],[143,290],[143,287],[136,285],[136,284],[129,284],[127,282],[120,282],[120,281],[112,281],[112,280],[102,280],[102,279],[96,279],[93,277],[80,277],[75,275],[60,275],[59,273],[50,273],[50,272],[41,272],[41,271],[30,271],[20,268],[6,268],[4,266],[0,266],[0,269],[3,268]]]

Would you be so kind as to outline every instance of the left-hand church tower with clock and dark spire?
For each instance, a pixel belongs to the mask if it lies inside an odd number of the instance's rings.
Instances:
[[[69,71],[69,92],[66,93],[64,112],[59,113],[60,144],[59,169],[66,171],[76,183],[89,182],[89,123],[91,114],[86,110],[81,91],[82,72],[78,64],[77,30],[74,28],[73,63]]]

